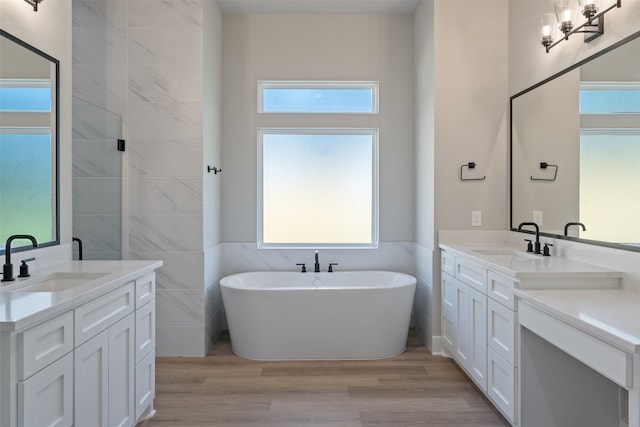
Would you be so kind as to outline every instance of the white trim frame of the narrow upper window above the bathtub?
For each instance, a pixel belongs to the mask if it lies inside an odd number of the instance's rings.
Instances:
[[[314,80],[258,80],[258,113],[260,114],[378,114],[378,81],[314,81]],[[372,111],[368,112],[271,112],[264,111],[263,91],[265,89],[371,89]]]

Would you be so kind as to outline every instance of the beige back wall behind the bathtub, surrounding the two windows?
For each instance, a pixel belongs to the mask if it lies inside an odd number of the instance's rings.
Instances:
[[[357,269],[375,268],[371,260],[383,258],[388,260],[383,262],[388,268],[406,271],[409,266],[407,272],[412,272],[415,176],[411,16],[225,15],[222,64],[222,239],[230,251],[224,256],[225,272],[235,272],[238,262],[250,269],[278,265],[293,270],[296,262],[310,262],[313,257],[312,251],[255,249],[259,126],[379,127],[380,249],[322,251],[326,255],[321,261]],[[380,114],[311,119],[304,115],[259,115],[256,82],[270,79],[378,80]],[[248,260],[236,260],[231,255],[238,251],[246,253]],[[407,261],[390,265],[398,253]]]

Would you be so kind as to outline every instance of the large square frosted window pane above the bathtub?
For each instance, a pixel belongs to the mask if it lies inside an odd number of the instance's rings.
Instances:
[[[377,243],[373,131],[262,136],[264,244]]]

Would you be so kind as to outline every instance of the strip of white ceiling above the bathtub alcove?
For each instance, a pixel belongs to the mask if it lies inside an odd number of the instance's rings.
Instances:
[[[217,0],[223,14],[411,15],[422,0]]]

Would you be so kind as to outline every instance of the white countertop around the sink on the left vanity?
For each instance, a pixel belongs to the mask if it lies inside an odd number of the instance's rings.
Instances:
[[[27,279],[2,282],[0,331],[21,330],[77,307],[162,266],[162,261],[69,261],[32,272]],[[106,273],[58,292],[31,292],[29,287],[52,273]]]

